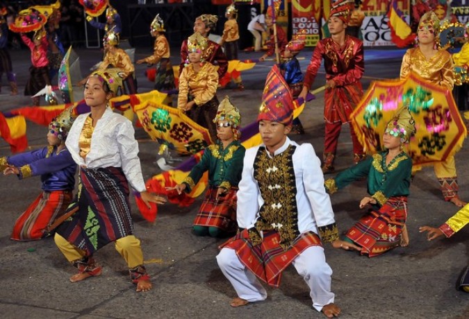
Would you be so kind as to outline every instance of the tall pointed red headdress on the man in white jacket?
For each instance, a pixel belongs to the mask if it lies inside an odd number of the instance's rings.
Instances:
[[[293,96],[277,64],[270,70],[262,94],[257,121],[272,121],[290,125],[293,121]]]

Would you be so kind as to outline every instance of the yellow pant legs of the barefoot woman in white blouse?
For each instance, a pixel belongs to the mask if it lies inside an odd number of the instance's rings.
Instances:
[[[54,236],[54,241],[60,252],[63,253],[69,262],[82,259],[86,255],[84,250],[76,248],[69,243],[67,239],[57,233]],[[121,239],[117,239],[114,243],[115,249],[125,259],[129,268],[143,265],[143,252],[140,247],[140,240],[137,237],[133,235],[125,236]]]

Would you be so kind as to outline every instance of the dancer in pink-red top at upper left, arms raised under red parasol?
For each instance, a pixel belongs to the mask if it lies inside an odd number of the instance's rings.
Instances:
[[[44,29],[38,30],[33,35],[31,41],[24,33],[21,33],[21,38],[31,50],[31,63],[29,68],[29,77],[26,87],[24,87],[24,95],[34,95],[46,85],[51,85],[49,79],[49,60],[47,59],[47,42],[46,32]],[[39,96],[33,98],[33,105],[39,105]]]

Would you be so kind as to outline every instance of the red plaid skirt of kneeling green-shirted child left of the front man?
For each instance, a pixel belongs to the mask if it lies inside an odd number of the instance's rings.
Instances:
[[[234,232],[236,223],[236,191],[230,189],[224,196],[217,198],[217,187],[211,187],[205,193],[204,202],[195,217],[194,225],[217,227],[224,232]]]

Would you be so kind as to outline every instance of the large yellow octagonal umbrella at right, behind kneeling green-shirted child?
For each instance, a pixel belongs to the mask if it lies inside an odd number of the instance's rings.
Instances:
[[[386,124],[403,106],[409,107],[417,130],[408,149],[414,165],[445,161],[461,148],[467,130],[451,91],[411,74],[402,80],[375,81],[352,113],[365,151],[383,150]]]

